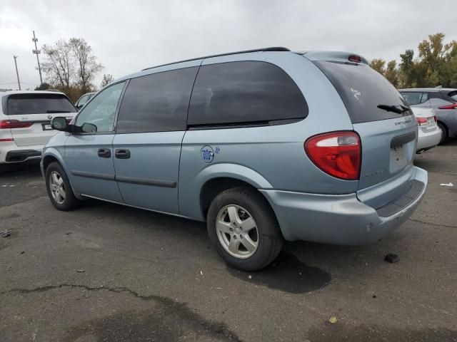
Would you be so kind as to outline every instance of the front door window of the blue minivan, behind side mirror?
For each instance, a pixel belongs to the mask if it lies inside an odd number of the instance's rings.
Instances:
[[[97,133],[111,132],[114,130],[117,103],[121,97],[125,82],[116,83],[96,95],[76,117],[76,126],[84,123],[96,125]]]

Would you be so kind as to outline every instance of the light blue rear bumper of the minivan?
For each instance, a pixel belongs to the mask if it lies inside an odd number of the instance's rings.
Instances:
[[[421,202],[427,178],[427,172],[416,167],[413,181],[423,186],[416,191],[415,197],[408,197],[408,201],[404,201],[402,195],[386,204],[386,207],[398,206],[395,213],[388,217],[381,216],[383,208],[376,210],[369,207],[360,202],[356,194],[316,195],[280,190],[261,192],[273,207],[286,240],[356,246],[376,242],[403,224]]]

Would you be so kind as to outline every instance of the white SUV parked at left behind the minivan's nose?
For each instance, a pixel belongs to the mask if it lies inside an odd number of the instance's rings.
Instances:
[[[7,91],[0,93],[0,104],[0,164],[41,158],[44,145],[57,133],[52,118],[71,120],[78,113],[57,91]]]

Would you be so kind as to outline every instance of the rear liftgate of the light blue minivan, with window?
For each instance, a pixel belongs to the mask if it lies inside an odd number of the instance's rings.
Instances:
[[[377,194],[375,207],[390,202],[409,186],[417,125],[411,108],[391,83],[365,63],[314,61],[343,100],[362,144],[358,193],[396,177],[395,189]],[[368,201],[369,202],[369,201]]]

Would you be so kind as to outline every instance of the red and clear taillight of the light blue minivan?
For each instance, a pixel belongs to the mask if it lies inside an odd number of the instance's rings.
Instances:
[[[305,142],[309,159],[323,172],[342,180],[358,180],[361,142],[357,133],[333,132],[316,135]]]

